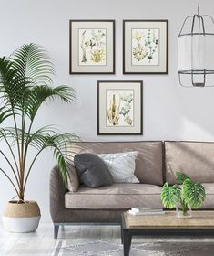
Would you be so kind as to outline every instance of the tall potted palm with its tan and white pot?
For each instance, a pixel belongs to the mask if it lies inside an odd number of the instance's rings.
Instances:
[[[0,173],[17,196],[8,202],[3,216],[10,231],[29,232],[38,226],[40,210],[35,201],[25,199],[25,187],[38,155],[47,147],[54,150],[63,180],[67,181],[65,142],[76,140],[76,135],[57,133],[51,125],[34,130],[36,113],[44,102],[56,98],[67,103],[75,100],[72,88],[51,87],[53,74],[46,49],[36,44],[23,45],[10,57],[0,58],[0,155],[5,159]],[[35,150],[29,154],[31,148]]]

